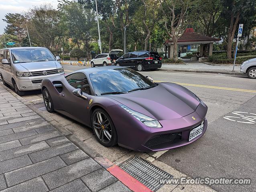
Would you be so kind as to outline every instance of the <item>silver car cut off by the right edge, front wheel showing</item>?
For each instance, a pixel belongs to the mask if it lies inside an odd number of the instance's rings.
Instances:
[[[240,72],[247,74],[251,79],[256,79],[256,58],[244,61],[240,66]]]

